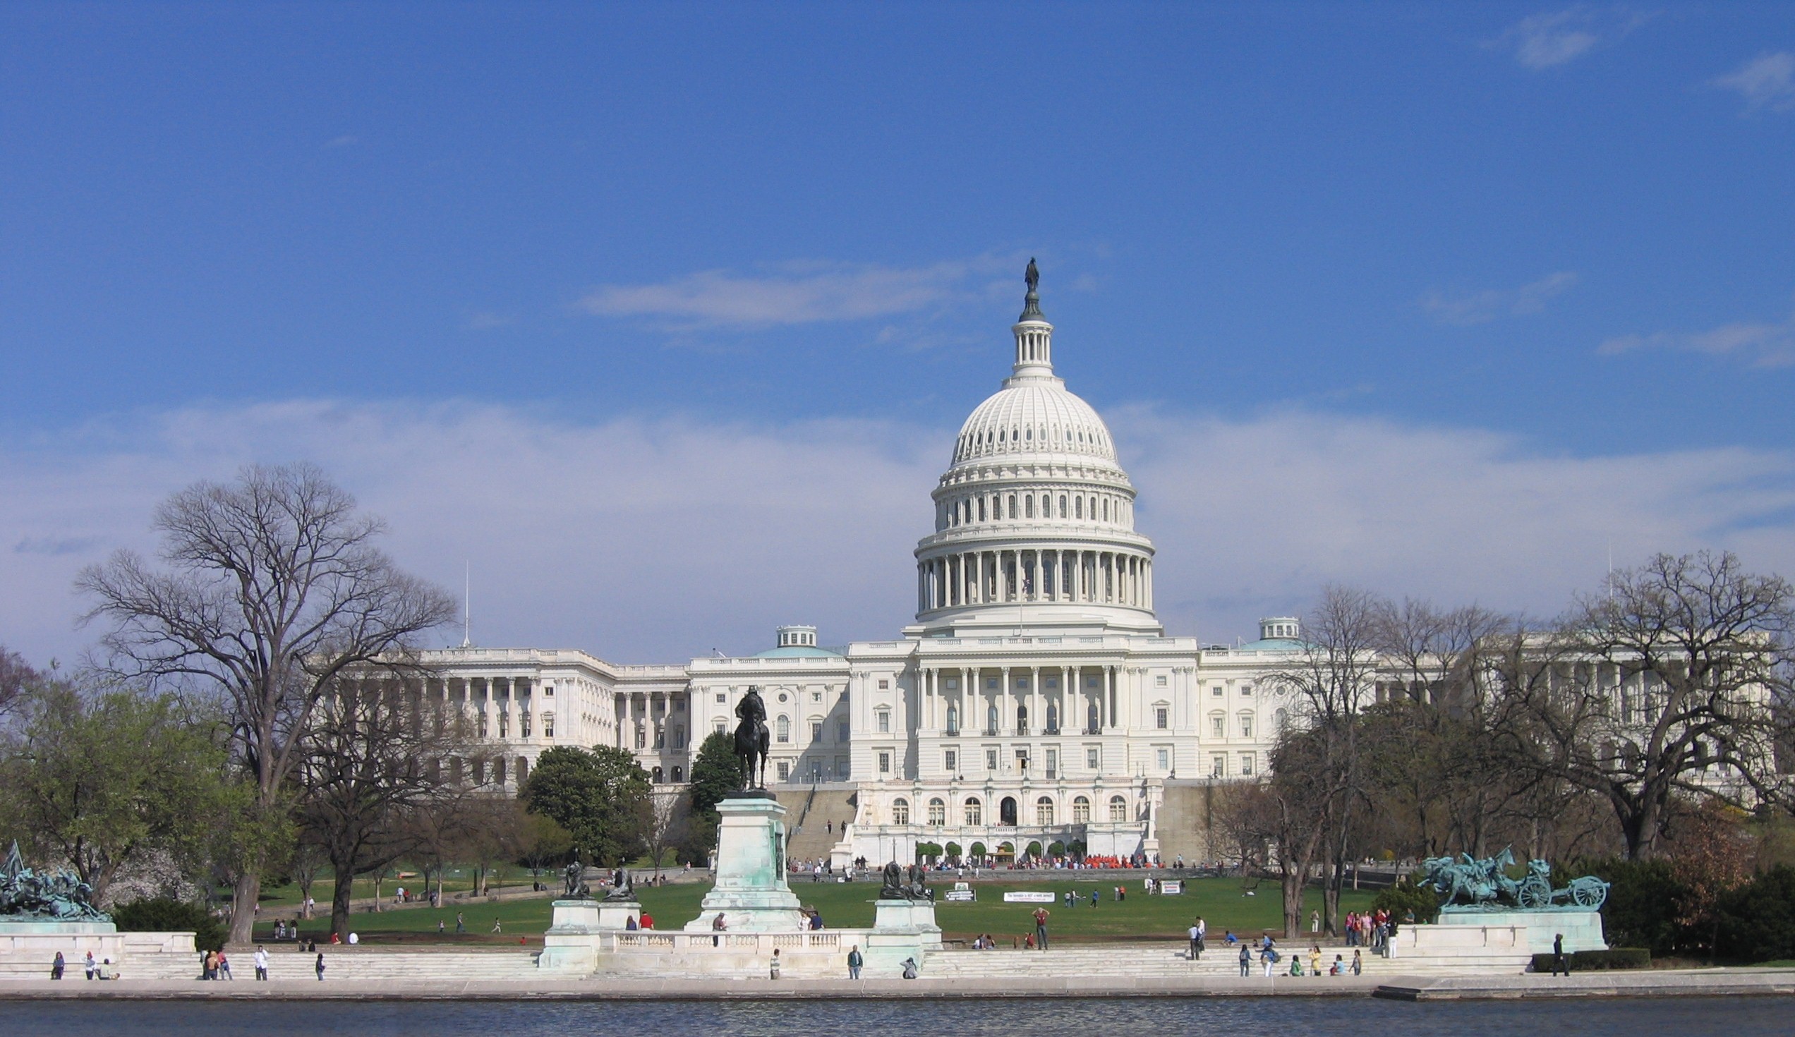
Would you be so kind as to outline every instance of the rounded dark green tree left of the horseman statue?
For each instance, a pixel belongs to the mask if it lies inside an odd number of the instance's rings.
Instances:
[[[643,852],[650,788],[626,750],[555,746],[537,757],[517,798],[567,829],[587,863],[610,867]]]

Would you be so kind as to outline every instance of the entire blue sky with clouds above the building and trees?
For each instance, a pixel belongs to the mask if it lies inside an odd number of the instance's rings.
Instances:
[[[887,637],[1030,255],[1174,633],[1791,571],[1791,183],[1786,4],[13,4],[0,642],[296,458],[488,642]]]

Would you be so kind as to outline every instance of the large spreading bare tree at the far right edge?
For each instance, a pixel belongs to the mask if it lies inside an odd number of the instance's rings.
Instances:
[[[1608,800],[1626,856],[1653,854],[1673,797],[1788,802],[1775,768],[1795,592],[1732,554],[1617,572],[1493,667],[1508,748]]]

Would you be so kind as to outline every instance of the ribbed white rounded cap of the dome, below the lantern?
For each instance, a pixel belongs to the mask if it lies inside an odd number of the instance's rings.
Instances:
[[[1109,429],[1059,379],[1011,379],[960,425],[953,463],[1018,454],[1075,454],[1116,465]]]

